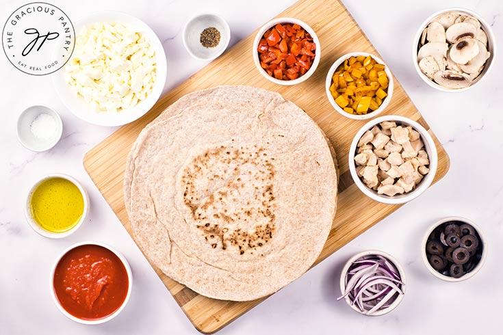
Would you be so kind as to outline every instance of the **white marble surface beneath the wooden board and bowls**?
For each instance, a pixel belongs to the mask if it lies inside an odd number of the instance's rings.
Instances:
[[[4,0],[8,15],[29,1]],[[183,49],[181,29],[190,16],[216,12],[231,26],[234,44],[293,0],[249,1],[50,1],[71,19],[100,10],[122,10],[151,25],[164,42],[168,57],[165,92],[205,62]],[[148,2],[148,5],[146,4]],[[498,334],[503,297],[503,91],[501,53],[483,83],[461,94],[441,93],[415,73],[411,39],[424,18],[442,8],[472,9],[493,26],[503,47],[503,2],[498,0],[343,1],[402,83],[415,105],[445,146],[450,172],[417,200],[403,206],[296,282],[267,299],[220,334]],[[264,9],[266,8],[266,9]],[[336,23],[335,23],[336,24]],[[83,170],[83,155],[115,129],[84,124],[57,98],[48,76],[32,77],[16,70],[0,55],[0,334],[196,334],[126,230]],[[18,143],[15,122],[27,105],[47,104],[60,112],[62,141],[53,150],[29,152]],[[88,222],[73,236],[51,240],[25,222],[23,201],[34,181],[64,172],[88,189]],[[442,282],[428,273],[420,256],[426,228],[441,217],[461,215],[478,223],[489,243],[485,267],[461,283]],[[134,272],[128,306],[99,326],[79,325],[53,305],[49,271],[65,247],[96,240],[118,248]],[[336,302],[335,282],[344,261],[356,252],[376,248],[396,256],[407,272],[407,295],[384,317],[363,317]]]

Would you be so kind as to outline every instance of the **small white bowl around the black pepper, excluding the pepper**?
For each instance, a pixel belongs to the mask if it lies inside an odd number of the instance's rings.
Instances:
[[[201,32],[215,27],[220,31],[220,42],[214,48],[206,48],[201,44]],[[191,18],[183,28],[183,45],[192,57],[201,60],[211,60],[222,55],[231,40],[231,29],[227,22],[215,14],[202,14]]]

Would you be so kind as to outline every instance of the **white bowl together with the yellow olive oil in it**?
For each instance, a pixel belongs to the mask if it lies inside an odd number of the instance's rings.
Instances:
[[[66,174],[50,174],[38,180],[25,203],[31,228],[52,239],[75,232],[86,219],[88,209],[88,193],[75,178]]]

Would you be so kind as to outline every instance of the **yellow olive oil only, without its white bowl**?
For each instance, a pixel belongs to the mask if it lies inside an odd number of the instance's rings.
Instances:
[[[49,232],[66,232],[83,215],[83,196],[77,185],[64,178],[42,181],[31,195],[31,215]]]

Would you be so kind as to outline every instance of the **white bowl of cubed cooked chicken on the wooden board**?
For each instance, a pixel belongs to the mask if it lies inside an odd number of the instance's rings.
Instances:
[[[354,136],[349,170],[357,187],[373,200],[403,204],[420,196],[437,172],[437,148],[419,123],[381,116]]]

